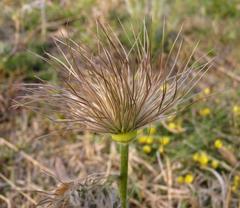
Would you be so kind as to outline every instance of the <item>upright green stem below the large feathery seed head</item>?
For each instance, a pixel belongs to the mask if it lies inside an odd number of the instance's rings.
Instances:
[[[128,184],[128,144],[120,144],[121,167],[120,167],[120,196],[122,208],[128,208],[127,184]]]

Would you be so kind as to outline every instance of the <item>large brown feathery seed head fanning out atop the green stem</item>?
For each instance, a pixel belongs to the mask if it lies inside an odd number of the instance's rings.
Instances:
[[[71,39],[55,39],[62,58],[46,53],[45,60],[62,69],[64,84],[28,84],[23,105],[37,110],[36,103],[47,104],[48,111],[63,115],[62,119],[51,119],[95,133],[135,132],[176,113],[175,107],[186,101],[184,97],[210,66],[195,67],[199,60],[190,64],[196,47],[179,66],[183,45],[180,32],[168,57],[162,54],[156,62],[145,25],[138,33],[132,30],[133,41],[127,37],[130,48],[111,27],[98,25],[103,38],[99,34],[96,37],[97,52]]]

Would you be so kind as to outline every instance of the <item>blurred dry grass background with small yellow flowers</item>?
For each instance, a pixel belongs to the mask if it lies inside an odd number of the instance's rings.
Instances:
[[[53,37],[94,48],[96,19],[121,33],[152,17],[153,45],[182,26],[186,44],[200,41],[195,59],[215,57],[199,82],[201,102],[142,130],[130,152],[131,208],[240,207],[240,1],[239,0],[1,0],[0,1],[0,207],[34,207],[56,181],[56,160],[71,177],[117,172],[118,147],[105,136],[69,132],[22,108],[12,108],[21,83],[36,77],[59,82],[34,55],[58,55]],[[120,34],[121,35],[121,34]],[[124,38],[122,39],[124,42]]]

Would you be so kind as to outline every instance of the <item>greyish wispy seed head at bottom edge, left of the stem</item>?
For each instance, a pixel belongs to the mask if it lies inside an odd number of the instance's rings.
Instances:
[[[81,180],[61,180],[52,193],[40,192],[44,197],[37,207],[119,208],[121,206],[119,194],[112,183],[113,178],[104,177],[101,174],[90,175]]]

